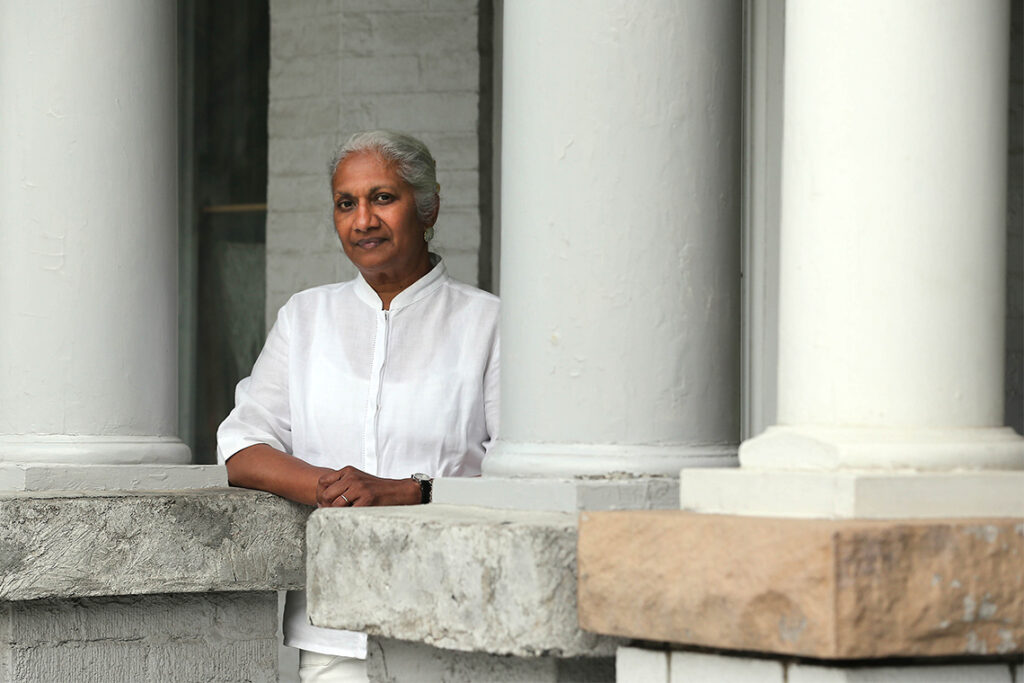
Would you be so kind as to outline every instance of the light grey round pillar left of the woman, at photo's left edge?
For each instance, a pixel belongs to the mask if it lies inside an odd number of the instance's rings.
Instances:
[[[184,463],[174,3],[0,3],[0,462]]]

